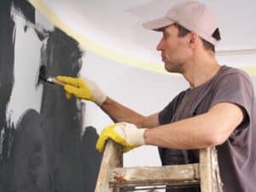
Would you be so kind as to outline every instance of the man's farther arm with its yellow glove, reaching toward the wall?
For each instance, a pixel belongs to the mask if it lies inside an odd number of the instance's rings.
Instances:
[[[138,127],[148,128],[159,125],[158,114],[145,117],[130,108],[126,108],[119,102],[115,102],[106,96],[102,89],[90,79],[58,76],[56,80],[65,84],[64,90],[66,91],[67,98],[76,96],[79,99],[95,102],[114,122],[125,121]]]

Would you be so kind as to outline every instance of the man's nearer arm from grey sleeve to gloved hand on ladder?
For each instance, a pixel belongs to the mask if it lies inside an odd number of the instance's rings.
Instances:
[[[251,101],[252,86],[243,79],[243,76],[234,79],[230,75],[228,79],[224,79],[220,84],[223,88],[214,92],[215,99],[212,103],[216,104],[207,113],[172,124],[160,118],[165,125],[156,125],[152,129],[147,129],[147,126],[144,126],[145,129],[137,129],[131,124],[112,125],[111,129],[109,127],[104,129],[103,132],[106,134],[101,134],[98,143],[102,142],[102,138],[108,137],[122,144],[127,150],[143,144],[177,149],[198,149],[222,144],[241,125],[243,119],[250,117],[247,112],[250,112],[251,108],[249,101]],[[230,86],[230,81],[238,85],[237,89]],[[249,94],[244,94],[245,92]],[[172,108],[166,108],[166,110],[169,113],[173,111]],[[169,119],[169,116],[166,118]],[[102,146],[98,149],[102,150]]]

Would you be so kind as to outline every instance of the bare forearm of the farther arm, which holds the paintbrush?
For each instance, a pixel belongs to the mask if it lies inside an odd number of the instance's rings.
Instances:
[[[145,117],[142,114],[137,113],[130,108],[126,108],[109,97],[102,103],[101,108],[114,122],[128,122],[135,124],[138,127],[143,126]]]

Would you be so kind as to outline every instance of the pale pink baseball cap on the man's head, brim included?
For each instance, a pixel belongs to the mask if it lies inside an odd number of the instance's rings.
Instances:
[[[168,10],[166,15],[156,20],[143,23],[143,27],[154,31],[162,31],[166,26],[176,23],[189,31],[196,32],[201,38],[213,45],[218,44],[219,39],[213,38],[214,32],[218,32],[218,22],[212,11],[204,3],[186,1],[177,3]]]

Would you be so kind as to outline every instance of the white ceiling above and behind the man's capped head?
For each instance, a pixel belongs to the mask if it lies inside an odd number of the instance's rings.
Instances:
[[[86,49],[101,55],[136,58],[137,61],[160,63],[155,46],[160,32],[143,29],[144,21],[166,13],[177,0],[31,0],[50,9],[81,40]],[[222,41],[217,50],[256,56],[255,0],[202,0],[218,17]],[[47,16],[47,15],[46,15]],[[79,40],[79,39],[78,39]],[[228,50],[225,52],[224,50]],[[256,57],[255,57],[256,58]]]

